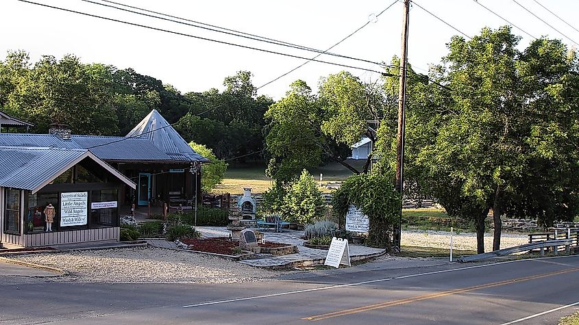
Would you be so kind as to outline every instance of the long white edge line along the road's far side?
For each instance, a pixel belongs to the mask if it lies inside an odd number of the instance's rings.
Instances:
[[[227,299],[227,300],[215,300],[215,301],[210,301],[210,302],[201,302],[201,303],[199,303],[199,304],[186,304],[186,305],[183,306],[183,308],[209,306],[209,305],[211,305],[211,304],[225,304],[225,303],[227,303],[227,302],[236,302],[236,301],[243,301],[243,300],[256,300],[256,299],[271,298],[271,297],[277,297],[277,296],[287,296],[287,295],[290,295],[290,294],[303,294],[304,292],[330,290],[330,289],[337,289],[337,288],[344,288],[344,287],[354,287],[354,286],[357,286],[357,285],[368,285],[368,284],[370,284],[370,283],[379,283],[379,282],[391,281],[391,280],[402,279],[402,278],[414,278],[415,276],[425,276],[425,275],[430,275],[430,274],[439,274],[439,273],[446,273],[446,272],[456,272],[456,271],[470,270],[470,269],[476,269],[476,268],[486,268],[486,267],[489,267],[489,266],[501,265],[501,264],[506,264],[506,263],[517,263],[517,262],[525,262],[525,261],[538,261],[538,260],[544,260],[544,259],[559,259],[559,258],[565,258],[565,257],[569,257],[569,256],[541,257],[541,258],[539,258],[539,259],[518,259],[518,260],[514,260],[514,261],[504,261],[504,262],[497,262],[497,263],[490,263],[490,264],[483,264],[483,265],[473,265],[473,266],[467,266],[467,267],[465,267],[465,268],[456,268],[456,269],[449,269],[449,270],[423,272],[423,273],[410,274],[410,275],[405,275],[405,276],[396,276],[396,277],[394,277],[394,278],[379,278],[379,279],[376,279],[376,280],[356,282],[356,283],[346,283],[346,284],[343,284],[343,285],[330,285],[330,286],[328,286],[328,287],[320,287],[320,288],[313,288],[313,289],[303,289],[303,290],[296,290],[296,291],[285,291],[285,292],[279,292],[278,294],[265,294],[265,295],[262,295],[262,296],[249,296],[249,297],[244,297],[244,298],[235,298],[235,299]]]

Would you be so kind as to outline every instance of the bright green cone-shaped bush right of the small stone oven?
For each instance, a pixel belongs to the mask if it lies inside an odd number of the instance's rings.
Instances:
[[[310,224],[323,217],[325,205],[321,192],[307,170],[301,172],[286,195],[286,220]]]

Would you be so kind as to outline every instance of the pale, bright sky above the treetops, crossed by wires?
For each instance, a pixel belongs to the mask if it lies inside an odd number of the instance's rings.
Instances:
[[[170,21],[140,16],[107,8],[82,0],[29,0],[60,8],[105,16],[121,21],[169,29],[182,34],[210,38],[223,42],[258,47],[301,57],[317,53],[257,42],[220,34]],[[102,3],[101,0],[90,0]],[[331,50],[370,62],[390,62],[400,55],[402,35],[402,1],[394,0],[114,0],[138,8],[171,14],[180,18],[227,29],[243,31],[284,42],[325,51],[353,31],[367,24]],[[478,0],[479,3],[524,29],[533,37],[548,36],[579,47],[579,0]],[[552,27],[532,16],[515,3],[517,1]],[[389,10],[378,15],[394,3]],[[542,4],[563,18],[569,27],[541,7]],[[109,3],[110,4],[110,3]],[[118,5],[116,5],[118,7]],[[438,64],[447,54],[446,44],[458,31],[428,14],[428,10],[467,36],[479,34],[483,27],[498,28],[509,25],[482,8],[475,0],[417,0],[410,9],[408,31],[408,62],[419,73],[430,64]],[[576,29],[575,29],[576,28]],[[558,31],[556,31],[557,29]],[[533,38],[513,27],[521,36],[519,48],[524,49]],[[561,34],[562,33],[562,34]],[[253,73],[252,82],[259,87],[304,63],[295,57],[264,53],[251,49],[218,44],[188,36],[105,21],[71,12],[63,12],[18,0],[0,1],[0,60],[7,51],[22,49],[32,62],[41,55],[73,54],[85,63],[103,63],[116,68],[133,68],[169,83],[181,92],[203,92],[210,88],[223,90],[223,79],[239,70]],[[317,90],[321,77],[347,70],[363,81],[376,81],[380,75],[373,71],[383,68],[359,60],[321,55],[317,60],[364,68],[344,68],[331,64],[309,62],[293,73],[258,90],[258,94],[280,99],[289,85],[302,79]]]

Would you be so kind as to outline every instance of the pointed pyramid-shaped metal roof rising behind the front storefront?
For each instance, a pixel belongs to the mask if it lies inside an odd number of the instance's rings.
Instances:
[[[153,109],[149,115],[145,116],[145,118],[127,134],[127,137],[148,139],[160,148],[161,151],[176,160],[209,161],[209,159],[196,153],[156,109]]]

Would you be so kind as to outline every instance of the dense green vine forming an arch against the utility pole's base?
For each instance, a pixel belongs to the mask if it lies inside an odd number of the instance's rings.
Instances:
[[[353,175],[332,197],[332,209],[341,218],[345,218],[351,204],[370,218],[369,246],[391,249],[392,229],[399,222],[401,204],[392,179],[375,173]]]

